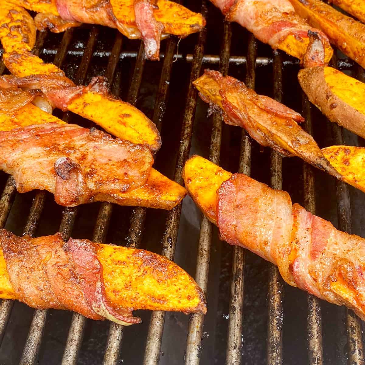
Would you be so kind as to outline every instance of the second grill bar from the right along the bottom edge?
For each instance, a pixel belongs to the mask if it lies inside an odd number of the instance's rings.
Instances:
[[[304,130],[313,135],[313,124],[311,108],[308,98],[302,93],[303,97],[303,115],[306,118]],[[303,164],[303,183],[304,183],[304,208],[315,214],[315,192],[314,192],[314,173],[312,166]],[[319,300],[311,295],[307,295],[307,331],[308,331],[308,360],[309,364],[323,364],[323,346],[322,346],[322,314]]]

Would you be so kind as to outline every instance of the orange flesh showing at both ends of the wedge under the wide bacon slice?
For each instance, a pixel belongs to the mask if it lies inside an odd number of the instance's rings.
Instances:
[[[29,103],[22,108],[4,114],[0,112],[0,131],[9,131],[31,124],[65,123]],[[126,193],[96,196],[96,201],[110,201],[119,205],[170,210],[185,197],[187,191],[155,169],[151,169],[145,185]]]

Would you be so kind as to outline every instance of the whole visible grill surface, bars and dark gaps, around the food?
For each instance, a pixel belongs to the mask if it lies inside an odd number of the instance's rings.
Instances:
[[[162,42],[160,62],[146,61],[143,44],[116,30],[74,28],[38,34],[34,53],[77,84],[104,75],[115,96],[136,105],[161,130],[155,168],[182,184],[189,153],[209,157],[233,172],[251,174],[341,230],[365,237],[364,194],[338,183],[298,158],[282,159],[251,142],[207,107],[191,85],[204,68],[219,69],[306,117],[320,147],[364,145],[330,123],[304,97],[299,62],[256,42],[238,24],[222,22],[207,1],[185,1],[207,18],[207,28],[178,44]],[[338,52],[337,52],[338,53]],[[338,53],[333,66],[364,79],[364,70]],[[0,71],[4,72],[3,64]],[[6,71],[6,70],[5,70]],[[76,115],[69,122],[91,126]],[[123,328],[64,311],[34,311],[18,301],[0,306],[1,364],[363,364],[362,323],[337,307],[289,287],[268,262],[218,238],[218,230],[187,197],[170,212],[94,203],[62,208],[46,192],[16,193],[0,175],[0,226],[21,235],[56,231],[162,253],[181,265],[207,293],[208,314],[139,311],[143,323]],[[351,212],[353,219],[351,220]]]

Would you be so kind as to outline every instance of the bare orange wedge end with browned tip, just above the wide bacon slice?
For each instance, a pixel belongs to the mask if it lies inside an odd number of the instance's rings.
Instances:
[[[68,104],[68,110],[92,120],[116,137],[146,145],[152,153],[161,147],[155,124],[124,101],[89,91],[74,98]]]

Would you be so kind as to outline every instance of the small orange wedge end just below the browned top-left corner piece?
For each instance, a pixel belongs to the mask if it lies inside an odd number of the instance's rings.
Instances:
[[[52,72],[62,72],[53,64],[45,64],[41,58],[30,52],[11,52],[4,53],[3,61],[8,70],[18,77],[42,74],[46,75]]]

